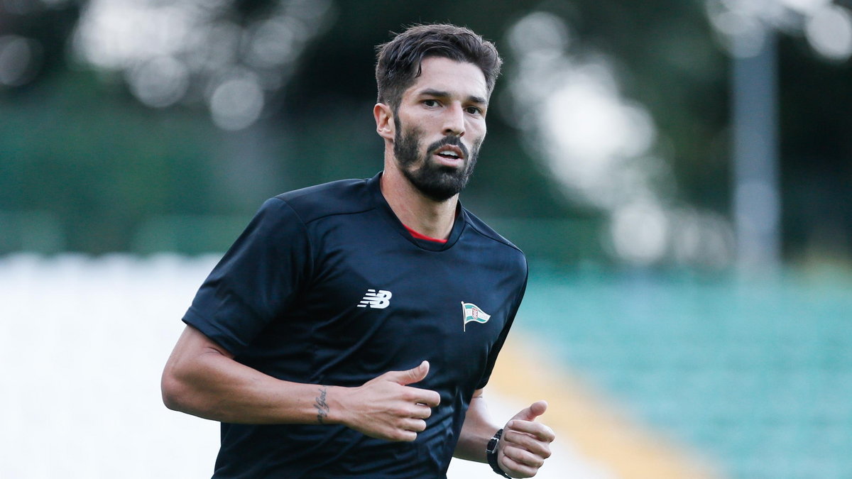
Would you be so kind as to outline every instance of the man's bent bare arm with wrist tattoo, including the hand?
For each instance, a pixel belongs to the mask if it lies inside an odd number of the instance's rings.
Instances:
[[[239,424],[345,424],[367,436],[413,441],[440,401],[437,392],[408,385],[428,372],[429,363],[423,361],[356,388],[293,383],[234,361],[226,349],[187,326],[166,363],[161,389],[166,407],[200,418]]]

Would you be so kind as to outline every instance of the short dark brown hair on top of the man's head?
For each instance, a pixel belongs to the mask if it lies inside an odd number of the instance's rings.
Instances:
[[[440,56],[466,61],[479,66],[485,75],[491,95],[503,60],[494,44],[463,26],[449,24],[409,27],[388,43],[376,47],[376,84],[378,101],[394,109],[400,106],[402,94],[420,76],[426,58]]]

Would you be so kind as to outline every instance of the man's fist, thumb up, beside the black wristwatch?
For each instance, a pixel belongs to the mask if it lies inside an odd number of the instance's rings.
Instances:
[[[497,462],[507,475],[535,476],[544,459],[550,457],[550,442],[556,435],[546,425],[535,422],[546,410],[546,402],[533,402],[506,423],[498,443]]]

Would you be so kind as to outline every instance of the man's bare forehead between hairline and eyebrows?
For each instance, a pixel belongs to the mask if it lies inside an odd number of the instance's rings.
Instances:
[[[420,76],[406,89],[405,95],[417,95],[423,89],[446,91],[465,98],[488,97],[485,74],[479,66],[440,56],[430,56],[420,63]]]

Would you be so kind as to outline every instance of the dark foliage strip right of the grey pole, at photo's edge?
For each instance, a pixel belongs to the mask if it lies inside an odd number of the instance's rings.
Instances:
[[[783,225],[791,250],[852,250],[852,65],[819,61],[795,38],[780,44]]]

